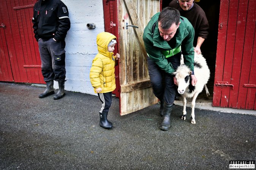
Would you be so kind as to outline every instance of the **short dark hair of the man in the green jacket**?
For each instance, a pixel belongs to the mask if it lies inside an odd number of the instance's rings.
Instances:
[[[177,9],[166,7],[164,8],[158,17],[158,22],[161,23],[161,28],[168,29],[173,23],[176,25],[180,22],[180,12]]]

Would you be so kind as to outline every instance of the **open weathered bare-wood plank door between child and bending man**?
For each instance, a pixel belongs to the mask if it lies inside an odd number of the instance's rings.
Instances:
[[[150,87],[142,34],[151,17],[160,11],[160,0],[119,0],[117,10],[120,114],[124,115],[158,102]]]

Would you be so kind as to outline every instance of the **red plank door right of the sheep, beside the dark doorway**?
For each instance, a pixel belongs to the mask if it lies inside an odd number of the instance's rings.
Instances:
[[[256,0],[221,0],[213,106],[256,110]]]

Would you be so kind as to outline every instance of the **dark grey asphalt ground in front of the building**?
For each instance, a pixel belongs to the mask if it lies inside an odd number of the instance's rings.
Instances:
[[[107,130],[99,126],[98,96],[38,98],[43,91],[0,82],[0,170],[223,170],[256,159],[255,115],[196,108],[191,124],[191,108],[183,121],[175,105],[172,126],[162,131],[159,104],[120,116],[113,97]]]

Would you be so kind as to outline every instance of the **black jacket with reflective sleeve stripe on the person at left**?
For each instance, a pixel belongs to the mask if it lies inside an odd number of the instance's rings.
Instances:
[[[70,29],[68,8],[61,0],[38,1],[34,6],[32,23],[37,41],[40,38],[65,40]]]

